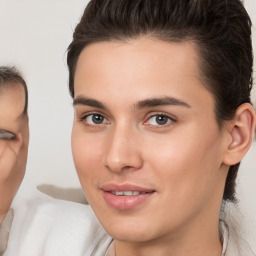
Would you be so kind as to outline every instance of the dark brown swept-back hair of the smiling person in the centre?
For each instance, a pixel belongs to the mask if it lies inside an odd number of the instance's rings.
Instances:
[[[239,105],[250,103],[251,20],[240,0],[92,0],[68,48],[71,96],[77,60],[85,46],[141,36],[196,46],[202,81],[215,98],[220,128]],[[229,169],[224,200],[236,199],[238,168],[239,163]]]

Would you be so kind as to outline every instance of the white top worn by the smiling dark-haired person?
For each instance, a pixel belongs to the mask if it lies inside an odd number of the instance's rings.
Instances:
[[[11,211],[12,212],[12,211]],[[9,242],[3,256],[115,256],[112,238],[104,231],[90,206],[57,200],[44,194],[14,208],[1,225]],[[220,221],[222,256],[253,256],[234,230]],[[7,239],[0,240],[0,249]],[[1,252],[0,252],[1,255]]]

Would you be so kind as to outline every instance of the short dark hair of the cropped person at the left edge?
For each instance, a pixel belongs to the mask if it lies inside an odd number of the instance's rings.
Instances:
[[[28,111],[28,88],[21,73],[15,67],[0,66],[0,93],[4,87],[22,85],[25,92],[24,114]]]

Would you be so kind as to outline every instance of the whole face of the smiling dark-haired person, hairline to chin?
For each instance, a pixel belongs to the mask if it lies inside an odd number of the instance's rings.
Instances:
[[[74,162],[106,231],[142,242],[215,225],[227,139],[193,45],[94,43],[74,83]]]

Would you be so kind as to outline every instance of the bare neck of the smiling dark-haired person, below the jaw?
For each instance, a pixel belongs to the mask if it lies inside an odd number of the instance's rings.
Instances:
[[[218,224],[209,232],[201,225],[197,232],[168,235],[147,242],[114,241],[115,256],[221,256],[222,243]]]

